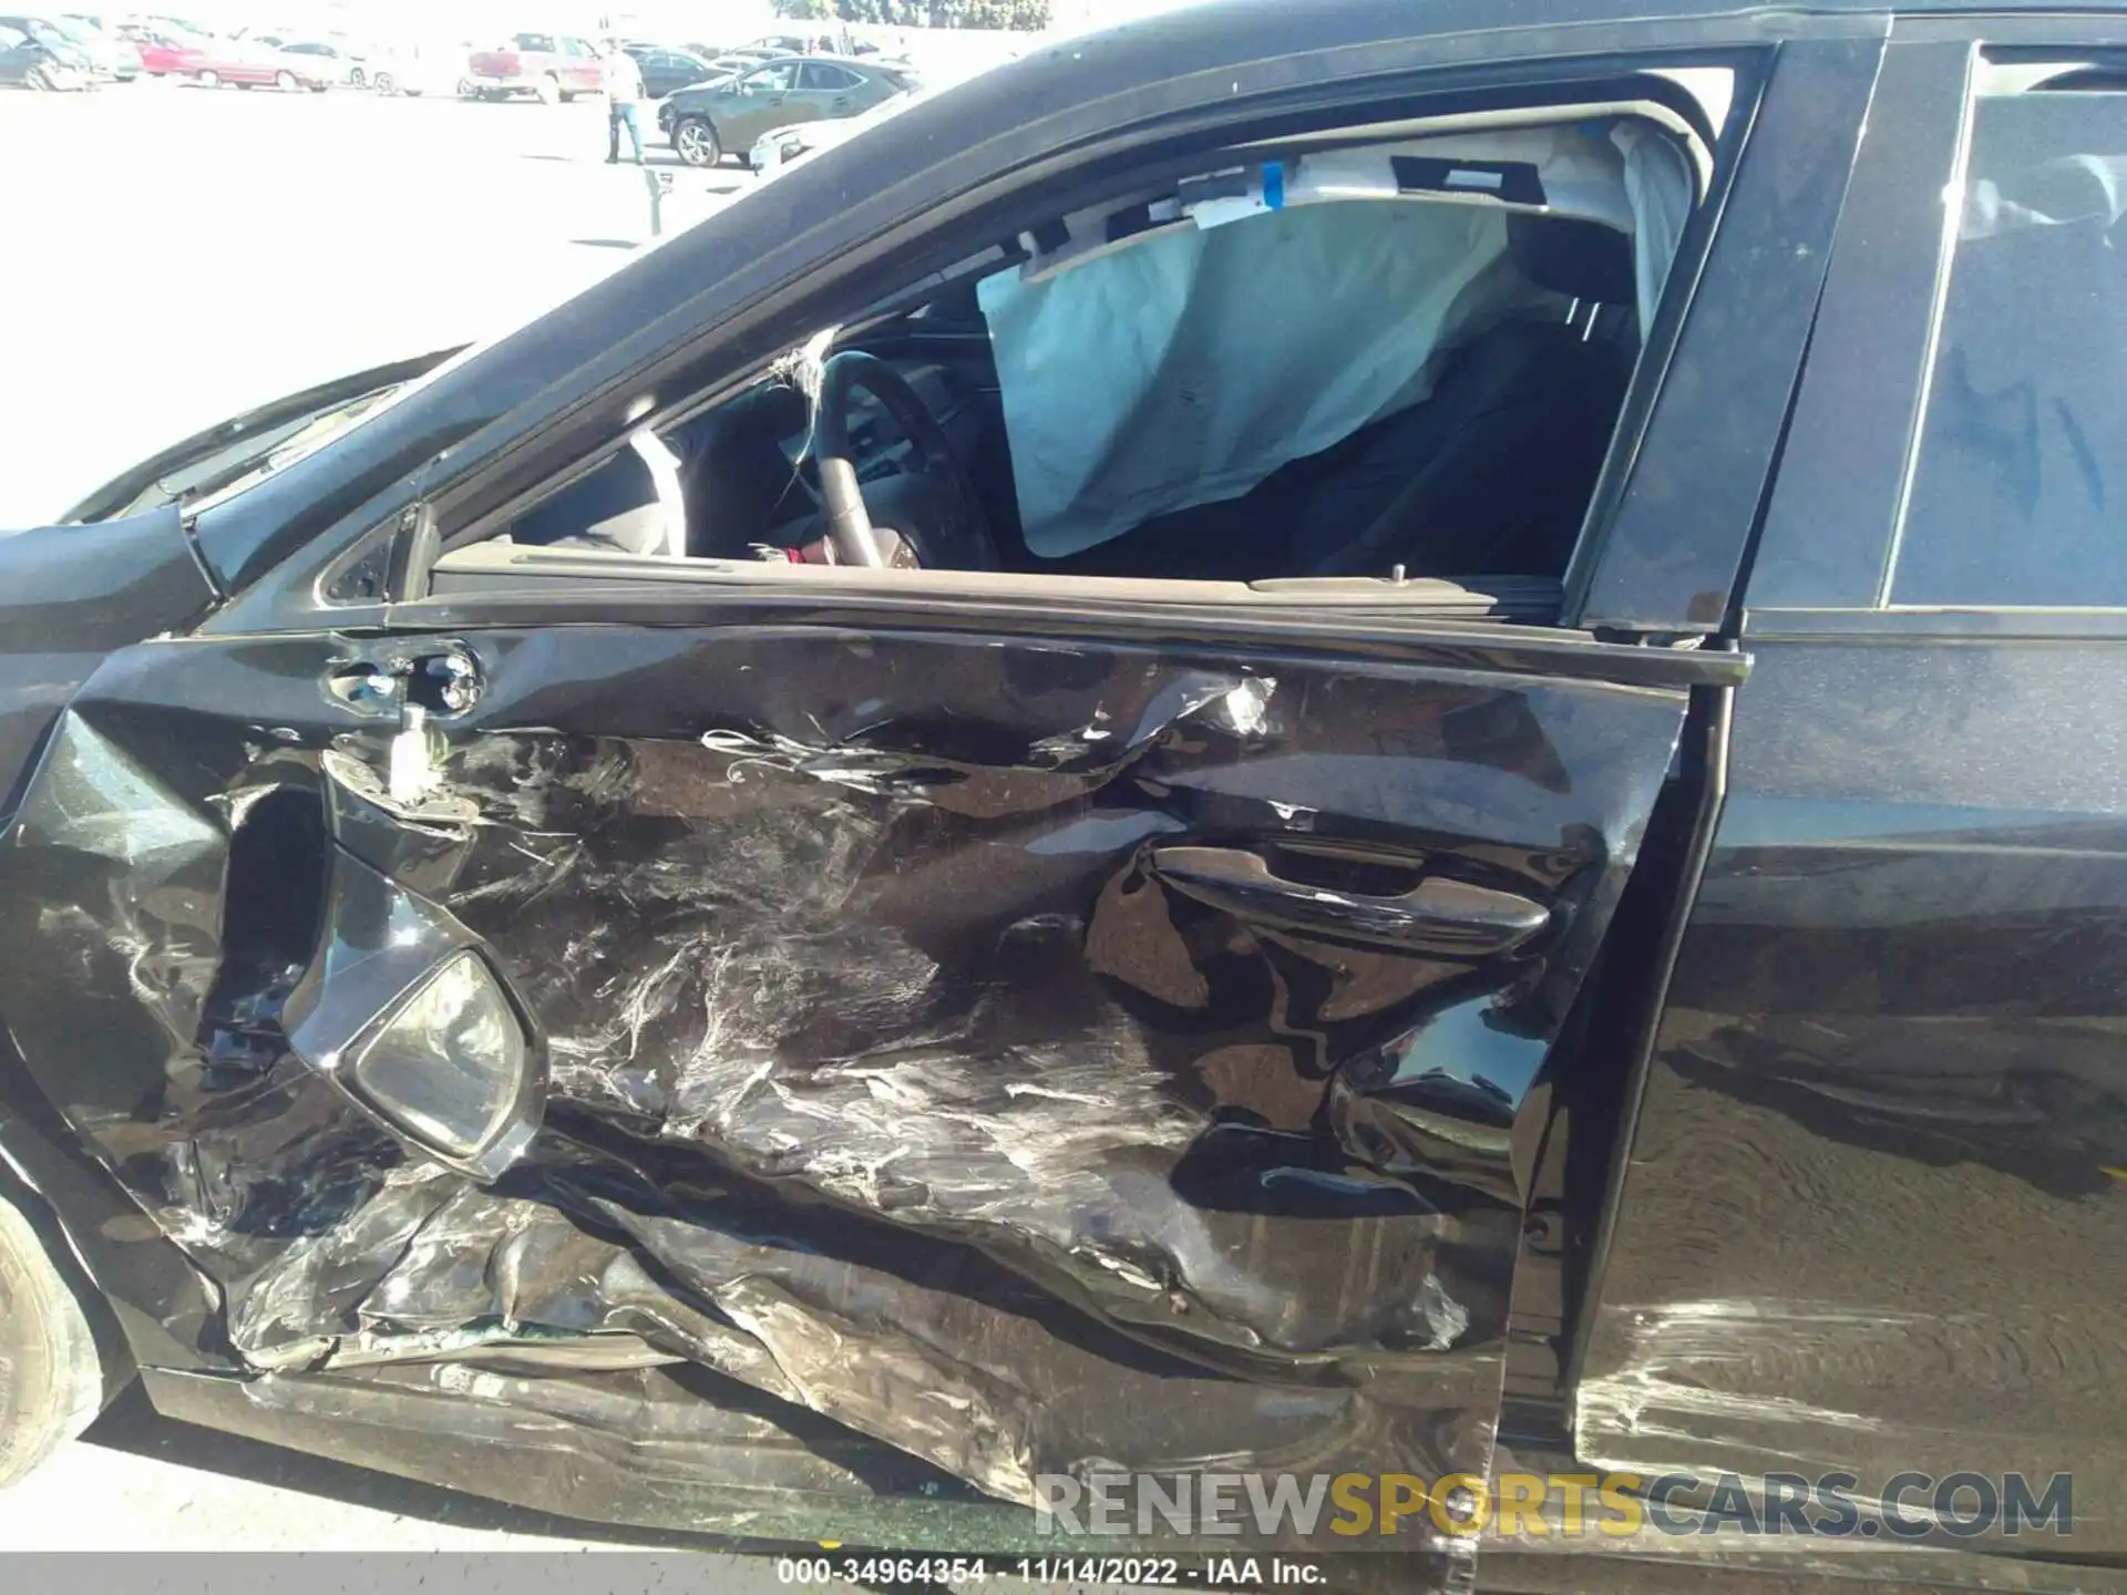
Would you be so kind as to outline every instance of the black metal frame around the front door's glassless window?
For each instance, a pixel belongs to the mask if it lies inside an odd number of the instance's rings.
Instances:
[[[1819,21],[1825,36],[1802,40],[1782,40],[1748,19],[1727,17],[1697,23],[1665,21],[1659,26],[1646,21],[1585,23],[1568,30],[1544,30],[1546,49],[1542,53],[1531,51],[1519,57],[1493,53],[1476,62],[1459,60],[1442,40],[1412,40],[1412,53],[1423,51],[1423,55],[1404,72],[1389,79],[1342,81],[1334,96],[1317,96],[1310,102],[1304,121],[1295,121],[1291,113],[1276,113],[1251,100],[1195,104],[1178,98],[1174,111],[1166,113],[1172,121],[1151,123],[1149,128],[1115,128],[1098,140],[1072,147],[1070,153],[1032,153],[1025,164],[985,172],[972,187],[961,189],[949,206],[940,204],[940,200],[919,202],[912,198],[912,194],[923,194],[942,174],[915,174],[919,183],[925,179],[929,183],[915,187],[908,200],[898,200],[902,204],[898,221],[872,234],[861,251],[836,253],[823,249],[813,253],[808,249],[806,257],[815,264],[810,270],[798,274],[789,274],[789,268],[778,264],[776,270],[783,276],[772,279],[774,285],[768,291],[751,300],[740,300],[734,310],[721,313],[715,319],[700,321],[683,340],[651,347],[649,330],[653,323],[644,323],[640,330],[642,336],[617,338],[615,355],[600,368],[587,370],[581,383],[570,383],[566,400],[555,389],[555,402],[527,406],[538,413],[527,415],[525,408],[502,413],[491,423],[491,436],[500,434],[506,440],[481,447],[481,438],[474,434],[474,438],[468,438],[453,451],[459,461],[470,464],[459,464],[455,470],[417,472],[413,478],[406,478],[404,491],[385,493],[364,510],[368,523],[359,532],[311,538],[300,557],[285,559],[277,570],[255,581],[202,629],[391,623],[393,610],[413,623],[413,610],[425,600],[400,600],[396,604],[389,598],[328,600],[328,585],[338,570],[357,566],[376,553],[364,547],[368,538],[389,538],[396,542],[396,551],[383,564],[404,570],[406,547],[419,542],[423,536],[434,538],[438,523],[462,525],[468,515],[485,515],[510,498],[527,496],[540,483],[555,483],[557,472],[566,470],[555,466],[557,457],[596,459],[606,442],[627,434],[630,417],[642,419],[644,396],[687,393],[687,404],[700,406],[702,402],[736,391],[768,359],[793,347],[804,336],[800,330],[844,325],[857,319],[866,306],[876,304],[876,285],[881,281],[921,281],[929,272],[947,270],[955,262],[968,259],[1000,236],[1012,236],[1012,217],[1019,217],[1025,225],[1034,225],[1032,219],[1036,213],[1053,215],[1059,204],[1068,208],[1072,196],[1070,181],[1089,181],[1085,174],[1100,170],[1104,162],[1112,168],[1119,160],[1127,160],[1136,170],[1144,170],[1144,162],[1159,157],[1161,151],[1168,151],[1172,160],[1174,149],[1232,149],[1246,145],[1251,134],[1261,138],[1270,128],[1280,130],[1287,138],[1300,134],[1321,136],[1338,128],[1359,130],[1380,125],[1383,115],[1395,115],[1395,121],[1402,123],[1414,117],[1451,115],[1457,108],[1472,108],[1472,104],[1497,104],[1500,98],[1508,96],[1527,96],[1531,104],[1542,104],[1546,98],[1585,102],[1589,85],[1600,81],[1617,83],[1621,77],[1648,70],[1674,72],[1691,66],[1727,66],[1736,72],[1736,98],[1716,147],[1714,191],[1699,206],[1691,228],[1687,228],[1663,313],[1657,317],[1657,325],[1648,330],[1640,370],[1634,376],[1634,393],[1627,396],[1625,417],[1612,442],[1610,466],[1604,472],[1604,485],[1597,487],[1597,502],[1589,513],[1574,557],[1576,572],[1593,570],[1600,576],[1608,557],[1608,544],[1617,540],[1617,527],[1627,519],[1619,513],[1617,500],[1625,500],[1625,510],[1634,508],[1629,504],[1629,489],[1636,483],[1638,464],[1648,440],[1651,413],[1655,432],[1665,440],[1665,449],[1691,436],[1691,425],[1680,425],[1678,417],[1665,419],[1653,400],[1659,400],[1670,385],[1670,366],[1678,357],[1678,330],[1691,325],[1689,306],[1697,298],[1708,242],[1712,240],[1719,247],[1716,240],[1727,236],[1727,230],[1734,225],[1727,213],[1736,211],[1744,202],[1744,196],[1757,189],[1772,189],[1806,196],[1789,204],[1789,211],[1782,213],[1787,221],[1793,221],[1795,206],[1799,204],[1808,215],[1821,215],[1829,232],[1831,219],[1838,215],[1838,194],[1825,196],[1823,183],[1797,181],[1793,168],[1797,155],[1821,151],[1823,140],[1814,147],[1797,149],[1793,134],[1789,134],[1785,147],[1763,134],[1768,128],[1778,130],[1802,123],[1823,128],[1829,123],[1833,142],[1840,136],[1857,136],[1887,21],[1882,17],[1827,17],[1812,19],[1812,26]],[[1585,45],[1585,49],[1563,49],[1565,38]],[[1829,117],[1825,115],[1827,106],[1833,113]],[[1842,117],[1848,108],[1853,123],[1842,132]],[[1374,115],[1368,115],[1370,111]],[[1283,115],[1283,121],[1274,121],[1274,115]],[[1219,145],[1210,145],[1212,138]],[[804,172],[793,177],[804,177]],[[1115,179],[1108,177],[1104,181],[1112,185]],[[791,187],[791,196],[795,196],[798,187],[802,183]],[[947,225],[940,225],[940,211],[951,213]],[[800,238],[804,234],[793,234],[791,242],[795,245]],[[1761,238],[1753,242],[1746,236],[1738,240],[1736,249],[1761,247]],[[774,251],[770,251],[772,255]],[[1808,262],[1804,262],[1793,276],[1797,279],[1795,291],[1814,302],[1816,276],[1810,270]],[[1821,264],[1814,270],[1821,272]],[[766,276],[766,270],[761,274]],[[1751,374],[1751,383],[1765,387],[1768,393],[1776,389],[1776,398],[1765,400],[1765,396],[1759,396],[1761,402],[1757,404],[1757,410],[1763,413],[1759,444],[1768,461],[1778,436],[1778,419],[1793,385],[1793,368],[1799,366],[1806,328],[1797,323],[1789,332],[1795,347],[1787,370],[1782,372],[1778,359],[1774,359],[1768,366],[1770,374]],[[1689,336],[1682,349],[1691,349]],[[1719,423],[1721,417],[1702,415],[1697,427],[1702,432],[1708,427],[1721,430]],[[1727,425],[1727,430],[1734,432],[1736,427]],[[442,466],[445,461],[436,464]],[[1625,491],[1619,491],[1612,483]],[[1612,502],[1606,502],[1606,491]],[[1751,513],[1755,513],[1755,500]],[[1612,519],[1617,525],[1610,525]],[[1644,523],[1648,517],[1640,515],[1638,519]],[[1716,564],[1723,549],[1734,549],[1734,557],[1740,559],[1751,515],[1736,517],[1731,525],[1721,525],[1719,534],[1708,530],[1706,521],[1708,517],[1697,517],[1689,534],[1716,544]],[[347,527],[347,521],[340,525]],[[1668,532],[1674,536],[1676,527],[1670,525]],[[634,583],[632,587],[647,587],[647,583]],[[713,589],[696,587],[693,591],[693,602],[710,602],[715,598]],[[1725,598],[1723,589],[1723,604]],[[649,591],[642,591],[615,593],[615,600],[621,604],[638,600],[664,604],[670,602],[670,595],[653,598]],[[1423,612],[1423,602],[1417,593],[1412,600],[1412,608]],[[1568,600],[1559,623],[1570,627],[1578,623],[1578,615],[1572,608],[1572,593],[1568,593]],[[759,600],[755,593],[734,593],[732,602],[751,606]],[[464,610],[464,602],[453,608]],[[521,598],[510,608],[521,612]],[[1146,617],[1159,612],[1159,606],[1144,606]],[[1304,593],[1295,593],[1291,595],[1289,612],[1312,615],[1314,610],[1306,604]],[[1678,615],[1678,619],[1682,617]]]

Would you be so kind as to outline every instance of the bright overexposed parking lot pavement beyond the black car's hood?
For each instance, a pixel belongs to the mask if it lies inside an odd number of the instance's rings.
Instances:
[[[504,332],[651,223],[596,100],[0,94],[0,527],[262,400]],[[649,160],[668,230],[751,183]]]

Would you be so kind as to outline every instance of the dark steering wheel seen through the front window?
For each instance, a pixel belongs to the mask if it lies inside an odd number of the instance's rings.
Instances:
[[[908,434],[908,442],[923,457],[921,478],[938,489],[923,496],[921,508],[912,502],[895,506],[895,519],[912,521],[891,527],[902,544],[915,553],[919,566],[932,570],[995,570],[989,517],[983,515],[983,502],[968,472],[953,457],[953,444],[938,417],[893,366],[857,349],[827,362],[813,430],[819,496],[827,510],[827,547],[834,549],[836,564],[881,568],[893,561],[893,544],[872,525],[864,487],[857,483],[857,459],[849,447],[849,402],[859,387],[868,389]],[[910,496],[893,493],[893,498]]]

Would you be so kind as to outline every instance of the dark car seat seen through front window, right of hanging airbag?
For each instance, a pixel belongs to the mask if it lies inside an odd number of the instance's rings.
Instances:
[[[1302,574],[1563,574],[1631,376],[1631,240],[1595,221],[1512,215],[1508,249],[1580,315],[1491,328],[1451,357],[1431,398],[1376,423],[1355,468],[1300,513]],[[1387,493],[1385,468],[1400,476]]]

